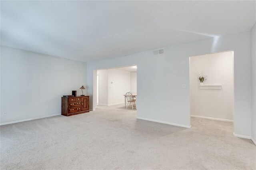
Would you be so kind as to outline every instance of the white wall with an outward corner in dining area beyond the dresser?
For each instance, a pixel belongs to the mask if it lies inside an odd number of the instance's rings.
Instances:
[[[124,103],[124,94],[131,90],[130,71],[120,69],[98,70],[99,104],[116,105]]]

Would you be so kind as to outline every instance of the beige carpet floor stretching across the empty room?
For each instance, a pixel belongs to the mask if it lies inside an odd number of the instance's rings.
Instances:
[[[157,112],[157,111],[156,111]],[[122,105],[1,126],[4,169],[256,169],[256,146],[232,123],[182,128],[136,119]]]

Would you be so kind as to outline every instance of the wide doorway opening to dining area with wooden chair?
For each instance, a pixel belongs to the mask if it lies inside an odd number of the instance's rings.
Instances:
[[[96,108],[126,109],[136,112],[137,66],[124,66],[96,70]],[[127,100],[132,94],[134,102]]]

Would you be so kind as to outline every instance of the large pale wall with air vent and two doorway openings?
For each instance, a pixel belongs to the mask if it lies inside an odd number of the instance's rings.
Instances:
[[[152,50],[89,62],[88,93],[92,99],[94,70],[137,65],[137,117],[190,127],[189,57],[228,50],[234,51],[234,133],[250,136],[250,32],[168,46],[162,55]],[[96,96],[90,107],[96,107]]]

